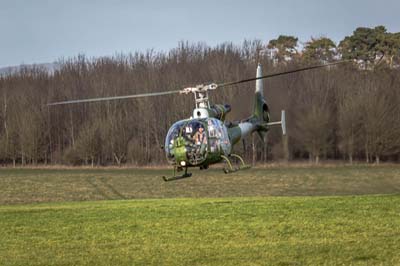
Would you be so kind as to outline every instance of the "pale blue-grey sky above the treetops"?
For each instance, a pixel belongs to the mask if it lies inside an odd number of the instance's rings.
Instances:
[[[400,0],[0,0],[0,67],[290,34],[335,42],[356,27],[400,31]]]

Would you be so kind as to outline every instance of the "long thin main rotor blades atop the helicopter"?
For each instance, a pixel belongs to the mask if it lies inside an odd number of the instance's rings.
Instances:
[[[347,62],[349,62],[349,61],[339,61],[339,62],[328,63],[328,64],[324,64],[324,65],[309,66],[309,67],[298,68],[298,69],[289,70],[289,71],[268,74],[268,75],[261,76],[261,77],[242,79],[242,80],[225,82],[225,83],[220,83],[220,84],[211,83],[208,85],[197,85],[195,87],[188,87],[188,88],[184,88],[182,90],[172,90],[172,91],[142,93],[142,94],[133,94],[133,95],[125,95],[125,96],[111,96],[111,97],[101,97],[101,98],[60,101],[60,102],[48,103],[47,106],[76,104],[76,103],[91,103],[91,102],[112,101],[112,100],[122,100],[122,99],[133,99],[133,98],[163,96],[163,95],[170,95],[170,94],[194,93],[197,95],[197,94],[207,93],[209,90],[216,90],[217,88],[225,88],[225,87],[238,85],[238,84],[242,84],[242,83],[246,83],[246,82],[251,82],[251,81],[255,81],[255,80],[268,79],[268,78],[272,78],[272,77],[283,76],[283,75],[297,73],[297,72],[303,72],[303,71],[307,71],[307,70],[311,70],[311,69],[324,68],[324,67],[343,64],[343,63],[347,63]]]

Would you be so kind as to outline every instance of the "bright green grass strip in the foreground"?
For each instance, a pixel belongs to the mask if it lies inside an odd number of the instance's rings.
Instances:
[[[1,265],[398,265],[400,196],[0,207]]]

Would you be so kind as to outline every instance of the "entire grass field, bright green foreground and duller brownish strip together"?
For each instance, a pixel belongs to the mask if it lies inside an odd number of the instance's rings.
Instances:
[[[400,265],[400,166],[163,174],[1,169],[0,265]]]

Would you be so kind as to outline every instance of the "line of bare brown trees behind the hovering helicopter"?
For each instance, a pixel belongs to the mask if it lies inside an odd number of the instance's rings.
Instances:
[[[216,47],[181,43],[168,53],[63,59],[49,73],[21,68],[0,78],[0,162],[3,164],[145,165],[166,163],[161,150],[169,127],[188,118],[193,96],[162,96],[48,107],[55,101],[177,90],[205,82],[335,60],[353,63],[266,80],[273,120],[287,111],[289,155],[279,129],[265,144],[253,136],[235,147],[257,162],[289,159],[381,160],[400,158],[400,37],[384,27],[358,28],[336,46],[312,39],[298,49],[293,36],[269,43],[245,41]],[[254,83],[217,90],[230,103],[228,120],[252,112]]]

